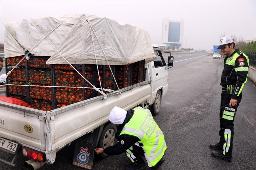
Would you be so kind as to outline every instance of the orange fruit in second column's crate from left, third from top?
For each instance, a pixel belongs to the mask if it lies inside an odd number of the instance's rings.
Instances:
[[[48,86],[46,84],[33,84],[33,85]],[[44,99],[44,100],[53,100],[52,94],[53,94],[52,87],[29,86],[29,97]]]

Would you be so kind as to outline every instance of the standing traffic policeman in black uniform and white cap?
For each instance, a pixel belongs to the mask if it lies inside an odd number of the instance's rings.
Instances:
[[[249,67],[248,57],[234,47],[233,39],[224,36],[220,39],[217,48],[226,55],[220,83],[222,85],[219,113],[220,140],[216,144],[210,144],[210,148],[219,150],[212,151],[211,155],[226,161],[232,160],[234,118],[242,99],[242,89],[247,82]]]

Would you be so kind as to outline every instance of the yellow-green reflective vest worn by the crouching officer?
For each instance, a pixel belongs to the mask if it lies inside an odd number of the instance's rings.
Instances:
[[[166,150],[164,134],[154,121],[151,112],[142,107],[133,109],[134,114],[122,129],[120,135],[127,134],[138,137],[142,143],[148,166],[152,167],[163,157]]]

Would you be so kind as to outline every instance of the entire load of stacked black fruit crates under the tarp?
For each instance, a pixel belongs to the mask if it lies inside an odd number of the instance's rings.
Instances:
[[[6,58],[7,73],[23,57]],[[101,83],[102,88],[117,90],[114,77],[119,89],[145,80],[145,60],[130,65],[111,65],[114,75],[108,65],[98,65],[100,81],[96,65],[72,64],[92,84],[90,85],[68,64],[47,65],[46,61],[49,57],[29,55],[29,60],[24,59],[7,77],[7,84],[13,84],[7,85],[7,96],[21,99],[32,108],[50,111],[101,95],[93,88],[83,87],[94,85],[100,88]],[[108,91],[103,92],[108,93]]]

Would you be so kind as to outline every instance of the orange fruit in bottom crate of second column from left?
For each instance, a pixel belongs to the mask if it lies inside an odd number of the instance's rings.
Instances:
[[[50,111],[53,110],[53,103],[50,100],[30,98],[30,105],[34,109]]]

